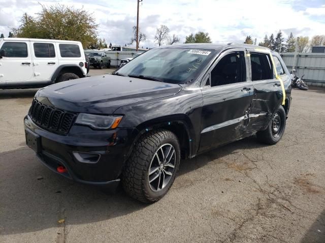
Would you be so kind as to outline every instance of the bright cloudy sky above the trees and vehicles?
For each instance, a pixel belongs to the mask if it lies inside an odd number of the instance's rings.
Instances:
[[[36,16],[41,6],[57,3],[84,8],[99,24],[98,34],[107,43],[124,45],[131,41],[137,21],[137,0],[0,0],[0,33],[8,36],[19,26],[26,12]],[[208,32],[213,43],[243,43],[246,35],[263,41],[265,34],[295,36],[325,34],[325,0],[143,0],[140,3],[140,31],[147,40],[141,47],[152,48],[156,28],[169,27],[170,34],[185,42],[186,35]],[[131,45],[132,46],[132,45]]]

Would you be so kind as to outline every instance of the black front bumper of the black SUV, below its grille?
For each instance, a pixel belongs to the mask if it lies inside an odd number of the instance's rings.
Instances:
[[[134,128],[95,131],[85,126],[72,126],[67,136],[38,127],[27,115],[25,130],[40,136],[37,157],[52,171],[77,182],[92,185],[116,185],[138,134]],[[78,154],[91,154],[98,159],[82,159]],[[67,172],[59,173],[58,166]]]

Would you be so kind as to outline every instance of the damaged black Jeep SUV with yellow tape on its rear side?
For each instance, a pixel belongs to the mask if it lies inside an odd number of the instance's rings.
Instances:
[[[278,53],[252,45],[154,48],[113,75],[39,90],[26,143],[67,178],[116,186],[145,203],[172,186],[181,158],[256,133],[277,143],[291,79]]]

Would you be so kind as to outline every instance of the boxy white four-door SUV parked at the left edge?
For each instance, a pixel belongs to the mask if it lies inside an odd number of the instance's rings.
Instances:
[[[87,76],[80,42],[0,38],[0,89],[41,88]]]

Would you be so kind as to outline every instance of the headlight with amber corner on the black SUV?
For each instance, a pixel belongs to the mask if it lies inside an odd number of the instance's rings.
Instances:
[[[122,116],[93,115],[80,113],[75,121],[76,124],[89,126],[93,129],[114,129],[117,128]]]

